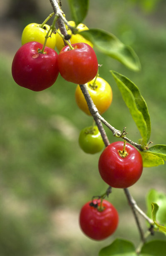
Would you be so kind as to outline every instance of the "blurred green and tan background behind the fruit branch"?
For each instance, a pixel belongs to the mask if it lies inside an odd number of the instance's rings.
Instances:
[[[62,9],[71,20],[67,0],[62,0]],[[42,23],[50,13],[50,1],[44,0],[6,0],[1,5],[0,256],[97,256],[116,237],[138,245],[139,233],[121,189],[113,189],[109,196],[120,218],[113,236],[96,242],[79,229],[82,205],[108,186],[98,172],[100,153],[87,155],[78,145],[79,131],[91,125],[92,118],[77,108],[75,84],[59,76],[49,89],[32,92],[12,79],[12,59],[21,46],[23,28],[31,22]],[[96,51],[102,64],[99,74],[113,90],[113,102],[103,117],[121,131],[126,126],[128,137],[136,142],[139,131],[109,70],[126,75],[139,87],[151,116],[151,141],[166,144],[165,13],[164,0],[91,0],[84,20],[89,28],[114,33],[140,58],[142,69],[134,73]],[[110,142],[116,141],[106,131]],[[129,191],[146,211],[149,189],[166,192],[165,184],[165,166],[145,168]]]

